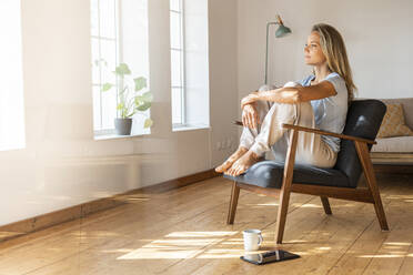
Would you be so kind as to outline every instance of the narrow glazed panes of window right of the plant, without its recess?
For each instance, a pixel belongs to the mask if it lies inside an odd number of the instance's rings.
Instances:
[[[183,3],[170,0],[172,125],[185,124]]]

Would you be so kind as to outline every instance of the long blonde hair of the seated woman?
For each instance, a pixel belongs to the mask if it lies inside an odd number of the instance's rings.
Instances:
[[[320,35],[320,45],[325,55],[329,70],[339,73],[340,77],[344,79],[350,104],[354,99],[354,92],[357,88],[353,82],[343,38],[340,32],[330,24],[314,24],[311,31],[315,31]]]

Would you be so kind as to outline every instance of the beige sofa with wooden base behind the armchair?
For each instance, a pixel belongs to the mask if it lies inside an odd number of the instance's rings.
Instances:
[[[413,98],[380,100],[385,104],[402,104],[405,124],[413,130]],[[413,165],[413,136],[377,138],[376,142],[371,150],[373,164]]]

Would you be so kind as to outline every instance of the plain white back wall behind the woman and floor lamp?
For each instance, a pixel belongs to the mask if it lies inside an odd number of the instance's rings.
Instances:
[[[357,96],[413,96],[413,1],[239,0],[238,8],[240,98],[264,81],[265,26],[276,13],[293,33],[271,37],[270,82],[282,85],[310,72],[303,45],[311,27],[325,22],[344,37]]]

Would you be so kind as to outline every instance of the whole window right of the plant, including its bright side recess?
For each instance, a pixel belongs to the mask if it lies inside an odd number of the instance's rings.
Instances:
[[[170,0],[173,131],[209,128],[208,0]]]

